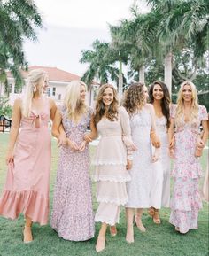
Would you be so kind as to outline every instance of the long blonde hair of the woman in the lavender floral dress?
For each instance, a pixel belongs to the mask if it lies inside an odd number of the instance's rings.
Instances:
[[[87,105],[81,101],[81,86],[87,89],[82,81],[71,81],[66,87],[66,96],[64,98],[64,106],[67,109],[70,119],[77,121],[81,114],[87,112]]]

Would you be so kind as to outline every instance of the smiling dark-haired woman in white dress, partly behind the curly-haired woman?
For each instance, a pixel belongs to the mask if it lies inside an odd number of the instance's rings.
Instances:
[[[170,157],[168,154],[168,136],[167,130],[170,124],[170,94],[166,87],[166,84],[162,81],[155,81],[151,84],[149,89],[149,97],[151,104],[155,110],[155,121],[156,129],[159,135],[159,140],[161,143],[159,162],[156,165],[157,170],[153,170],[152,175],[152,198],[153,201],[161,199],[160,206],[169,207],[170,204]],[[159,181],[159,168],[163,170],[162,180]],[[160,188],[162,187],[162,188]],[[161,192],[161,194],[160,194]],[[160,223],[159,219],[159,208],[154,207],[154,205],[149,209],[153,221],[156,224]]]

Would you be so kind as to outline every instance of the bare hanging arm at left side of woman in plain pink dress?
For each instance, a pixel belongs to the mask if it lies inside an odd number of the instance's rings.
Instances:
[[[10,138],[9,138],[8,153],[6,157],[7,164],[12,163],[14,159],[13,151],[17,141],[18,134],[19,134],[20,120],[21,120],[21,100],[17,99],[15,100],[12,108],[12,128],[11,128]]]

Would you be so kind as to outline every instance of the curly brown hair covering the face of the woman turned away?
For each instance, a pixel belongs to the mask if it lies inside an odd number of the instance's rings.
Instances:
[[[135,113],[135,111],[142,109],[146,104],[146,97],[143,87],[143,83],[133,82],[126,91],[123,106],[130,115]]]

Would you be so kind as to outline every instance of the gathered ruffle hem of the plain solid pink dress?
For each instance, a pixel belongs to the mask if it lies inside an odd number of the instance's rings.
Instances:
[[[4,190],[0,199],[0,215],[15,220],[19,213],[24,213],[33,222],[46,225],[49,214],[49,198],[44,198],[37,191]]]

